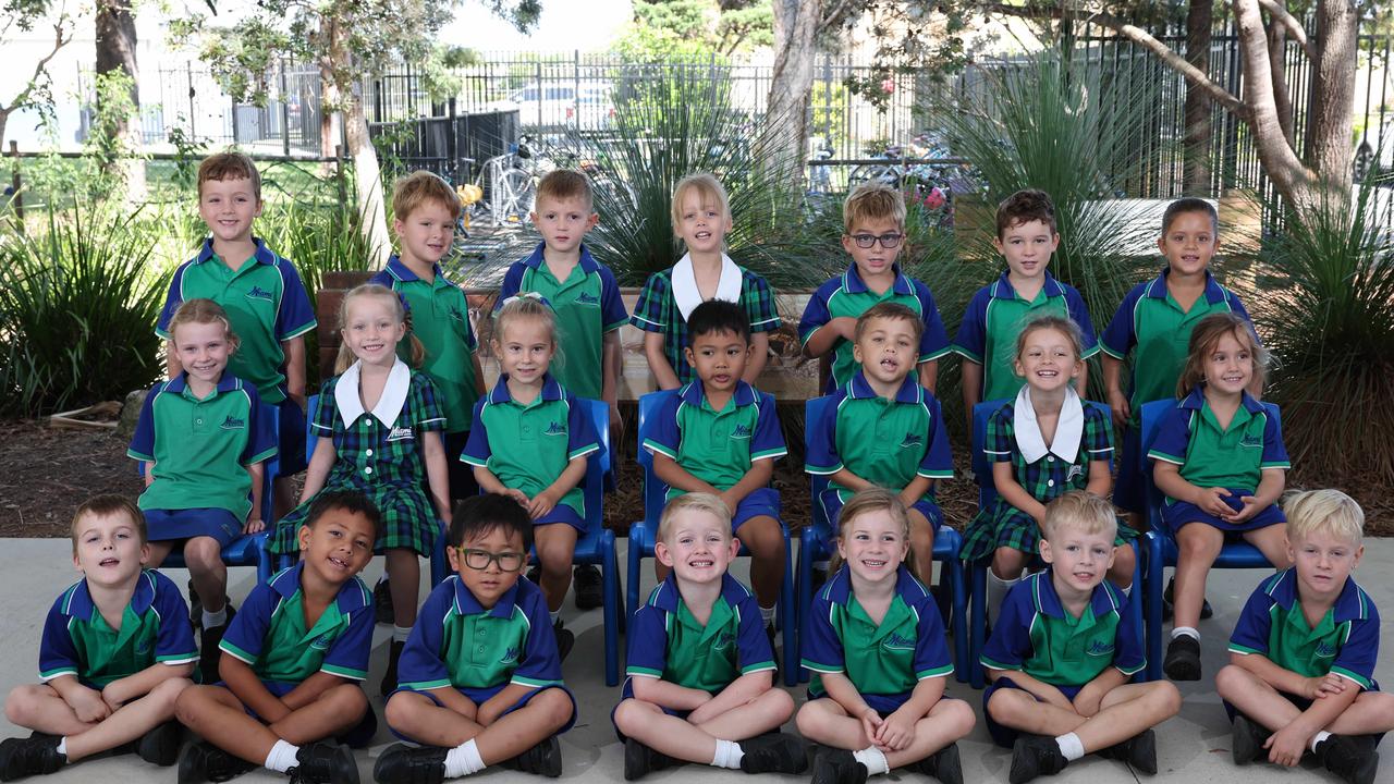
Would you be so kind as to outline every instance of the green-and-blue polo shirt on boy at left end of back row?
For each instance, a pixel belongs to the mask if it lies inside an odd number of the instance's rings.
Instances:
[[[256,385],[262,400],[277,405],[286,399],[286,352],[280,345],[314,329],[315,311],[296,266],[261,237],[252,241],[256,252],[230,269],[213,254],[213,240],[204,240],[198,255],[174,271],[155,333],[173,339],[170,319],[187,300],[208,299],[223,306],[241,340],[227,360],[227,372]]]

